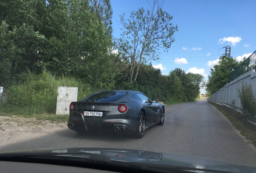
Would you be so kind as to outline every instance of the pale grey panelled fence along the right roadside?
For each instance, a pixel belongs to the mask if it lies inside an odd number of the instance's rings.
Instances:
[[[246,110],[242,109],[242,105],[238,97],[238,89],[241,89],[242,83],[252,86],[254,93],[254,99],[256,98],[256,72],[254,69],[239,76],[235,80],[229,82],[222,89],[214,93],[210,98],[210,102],[217,104],[224,104],[229,107],[235,108],[238,111],[247,113]]]

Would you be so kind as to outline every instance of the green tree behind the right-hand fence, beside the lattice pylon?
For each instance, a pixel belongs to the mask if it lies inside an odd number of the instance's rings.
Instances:
[[[213,66],[208,76],[208,82],[206,84],[206,91],[213,95],[219,91],[225,84],[230,82],[231,72],[239,66],[239,62],[234,58],[222,56],[218,64]]]

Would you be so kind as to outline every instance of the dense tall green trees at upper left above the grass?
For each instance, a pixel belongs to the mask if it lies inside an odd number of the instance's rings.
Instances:
[[[0,85],[27,70],[113,85],[111,16],[109,0],[1,1]]]

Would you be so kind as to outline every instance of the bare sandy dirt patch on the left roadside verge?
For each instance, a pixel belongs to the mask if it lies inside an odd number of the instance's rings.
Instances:
[[[66,128],[66,123],[0,116],[0,146],[41,137]]]

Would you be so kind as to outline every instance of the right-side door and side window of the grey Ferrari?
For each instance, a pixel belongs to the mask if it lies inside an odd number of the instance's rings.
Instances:
[[[147,123],[153,124],[158,122],[158,115],[159,115],[159,108],[157,107],[156,103],[153,103],[149,97],[143,95],[141,93],[137,94],[140,97],[142,103],[146,106],[146,114],[147,114]]]

